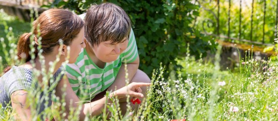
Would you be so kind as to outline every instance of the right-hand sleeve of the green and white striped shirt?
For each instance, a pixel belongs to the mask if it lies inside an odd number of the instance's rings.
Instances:
[[[121,56],[122,62],[124,62],[123,60],[126,60],[127,63],[134,62],[138,56],[136,40],[132,29],[130,31],[127,48],[123,51]]]

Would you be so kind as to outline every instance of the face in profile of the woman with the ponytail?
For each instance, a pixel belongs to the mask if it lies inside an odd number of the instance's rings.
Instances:
[[[70,47],[70,55],[69,55],[69,64],[73,64],[76,62],[76,59],[82,48],[86,47],[84,43],[84,27],[80,30],[78,35],[72,40]],[[65,57],[67,57],[67,51],[65,51]]]

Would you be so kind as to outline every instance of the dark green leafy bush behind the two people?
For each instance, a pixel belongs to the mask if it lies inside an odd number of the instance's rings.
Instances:
[[[94,3],[111,2],[122,7],[129,15],[137,40],[141,58],[140,69],[149,76],[159,63],[176,68],[176,57],[184,56],[190,43],[191,54],[197,58],[206,55],[207,50],[214,51],[213,40],[200,34],[191,25],[194,17],[199,16],[199,6],[187,1],[55,1],[50,6],[68,8],[77,14],[85,13]],[[173,69],[174,69],[173,68]]]

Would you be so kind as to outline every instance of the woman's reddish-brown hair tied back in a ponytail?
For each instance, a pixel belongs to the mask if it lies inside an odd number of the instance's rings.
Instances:
[[[50,9],[44,11],[34,22],[33,32],[24,33],[20,36],[17,44],[17,56],[19,60],[29,62],[30,56],[30,40],[37,41],[41,37],[42,54],[51,53],[53,47],[59,45],[59,39],[63,40],[63,44],[70,45],[72,39],[77,36],[84,26],[84,21],[76,14],[68,10]],[[31,35],[34,35],[32,38]],[[35,56],[38,54],[37,42],[34,45]],[[4,73],[11,68],[7,67]]]

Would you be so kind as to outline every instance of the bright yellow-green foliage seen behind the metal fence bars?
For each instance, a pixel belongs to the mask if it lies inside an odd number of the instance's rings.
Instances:
[[[274,42],[276,5],[277,1],[266,0],[265,25],[264,21],[264,1],[254,1],[253,22],[251,33],[251,13],[252,1],[242,1],[242,10],[240,14],[240,1],[231,1],[230,4],[230,34],[229,37],[239,38],[240,15],[241,15],[241,39],[262,42],[264,27],[264,42]],[[217,34],[217,1],[200,2],[200,17],[197,18],[197,28],[202,31]],[[219,34],[228,36],[228,1],[219,0]],[[209,11],[208,11],[209,10]],[[212,14],[214,13],[215,16]],[[203,30],[204,29],[204,30]]]

